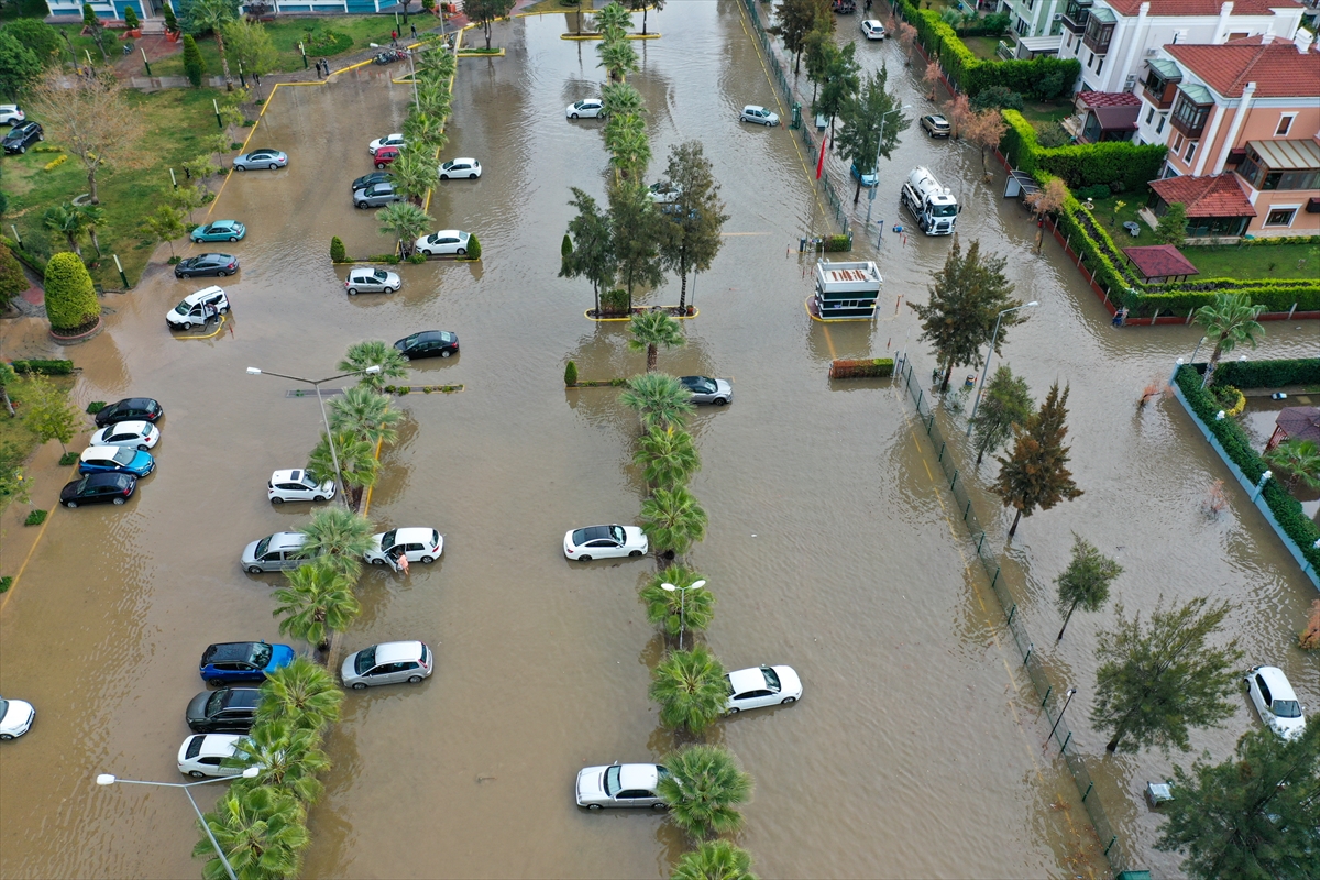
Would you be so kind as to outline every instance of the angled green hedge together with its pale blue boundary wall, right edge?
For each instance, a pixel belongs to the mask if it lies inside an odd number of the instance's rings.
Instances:
[[[1246,489],[1251,503],[1279,534],[1288,553],[1298,561],[1311,582],[1320,587],[1320,528],[1308,517],[1302,505],[1276,479],[1261,486],[1269,470],[1253,449],[1251,439],[1236,418],[1217,418],[1218,401],[1201,388],[1205,364],[1183,364],[1173,369],[1173,396],[1200,426],[1205,439],[1220,454],[1237,482]],[[1247,360],[1221,363],[1214,372],[1217,383],[1234,388],[1279,388],[1283,385],[1320,385],[1320,358],[1305,360]]]

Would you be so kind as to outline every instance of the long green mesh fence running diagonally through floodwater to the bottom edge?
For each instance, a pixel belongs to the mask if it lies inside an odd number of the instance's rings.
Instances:
[[[999,600],[1005,624],[1012,633],[1014,645],[1018,649],[1018,656],[1022,658],[1022,668],[1031,678],[1036,697],[1040,699],[1040,708],[1045,714],[1045,720],[1053,724],[1053,740],[1059,745],[1059,753],[1067,763],[1073,782],[1077,785],[1077,792],[1081,794],[1081,805],[1086,809],[1086,815],[1096,827],[1102,854],[1109,860],[1111,868],[1110,875],[1114,876],[1122,871],[1135,869],[1135,852],[1130,850],[1127,840],[1119,838],[1115,825],[1110,822],[1109,814],[1105,811],[1104,805],[1100,802],[1100,796],[1096,793],[1096,784],[1086,767],[1086,760],[1078,753],[1073,743],[1073,734],[1068,727],[1068,722],[1060,716],[1067,689],[1060,687],[1057,691],[1055,690],[1044,661],[1035,650],[1035,643],[1027,632],[1023,613],[1018,608],[1012,594],[1008,592],[1007,579],[1003,577],[1001,562],[990,548],[986,546],[986,529],[977,517],[975,511],[972,509],[972,496],[968,492],[966,480],[961,478],[954,462],[954,445],[950,445],[945,439],[944,430],[939,425],[932,406],[933,401],[925,396],[925,389],[921,388],[920,379],[913,372],[911,360],[904,358],[894,381],[903,389],[904,398],[916,406],[916,414],[920,420],[917,433],[931,441],[932,449],[936,453],[944,476],[944,486],[953,496],[956,505],[952,513],[968,528],[973,551],[985,570],[986,578],[990,581],[990,591]]]

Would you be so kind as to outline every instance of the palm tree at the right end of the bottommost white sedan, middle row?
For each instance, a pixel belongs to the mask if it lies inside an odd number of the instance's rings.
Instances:
[[[734,756],[717,745],[689,745],[664,760],[669,774],[660,780],[660,797],[669,818],[694,838],[742,827],[737,805],[751,800],[751,776]]]

